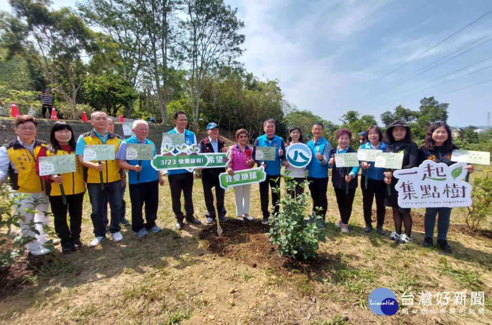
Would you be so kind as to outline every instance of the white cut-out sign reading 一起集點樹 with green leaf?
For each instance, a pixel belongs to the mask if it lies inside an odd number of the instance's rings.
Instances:
[[[471,205],[471,185],[463,181],[466,163],[451,166],[425,160],[419,167],[393,172],[398,178],[398,205],[402,208],[457,207]]]

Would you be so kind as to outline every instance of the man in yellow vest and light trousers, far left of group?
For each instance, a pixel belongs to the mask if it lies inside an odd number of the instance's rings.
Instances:
[[[37,119],[30,115],[20,115],[15,119],[14,132],[17,138],[0,147],[0,179],[9,177],[13,196],[29,194],[19,198],[15,207],[15,214],[23,215],[24,221],[19,221],[20,231],[24,235],[33,237],[34,240],[27,243],[27,251],[33,255],[43,255],[50,251],[43,246],[48,239],[48,234],[43,230],[43,225],[49,224],[48,197],[45,193],[45,181],[36,175],[35,157],[39,149],[46,142],[36,140]],[[36,212],[28,212],[26,211]],[[34,228],[39,234],[32,231],[32,222],[36,223]]]

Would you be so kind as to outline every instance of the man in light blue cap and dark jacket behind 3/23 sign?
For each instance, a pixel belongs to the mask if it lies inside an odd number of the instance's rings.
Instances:
[[[208,137],[201,140],[198,147],[201,153],[225,153],[227,151],[226,144],[219,139],[219,126],[212,122],[207,125]],[[224,208],[225,190],[220,187],[219,174],[226,171],[225,167],[203,168],[201,171],[201,184],[203,185],[203,196],[205,205],[207,206],[207,223],[214,223],[215,208],[214,197],[212,196],[212,187],[215,186],[215,196],[217,197],[217,211],[219,213],[220,222],[227,221],[226,208]]]

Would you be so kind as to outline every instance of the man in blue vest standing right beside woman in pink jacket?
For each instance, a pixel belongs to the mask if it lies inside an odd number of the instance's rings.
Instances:
[[[272,189],[272,205],[274,207],[274,213],[277,213],[279,207],[277,206],[277,201],[280,199],[280,192],[275,193],[273,189],[280,186],[280,161],[285,159],[285,143],[283,139],[275,135],[275,120],[268,119],[263,122],[263,130],[265,134],[256,138],[255,145],[253,147],[252,157],[259,166],[265,168],[265,173],[267,178],[260,182],[260,201],[261,201],[261,212],[263,213],[263,224],[268,223],[268,218],[270,217],[270,211],[268,210],[268,186]],[[275,159],[274,160],[263,160],[256,159],[257,147],[274,147],[275,148]]]

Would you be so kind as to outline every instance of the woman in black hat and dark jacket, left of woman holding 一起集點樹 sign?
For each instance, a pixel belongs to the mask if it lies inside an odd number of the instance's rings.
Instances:
[[[410,127],[403,120],[398,120],[389,125],[384,133],[385,142],[388,144],[386,153],[403,154],[401,169],[409,169],[419,164],[419,147],[412,142],[412,133]],[[393,209],[393,220],[395,222],[395,231],[389,235],[389,239],[399,244],[412,243],[412,216],[410,208],[401,208],[398,206],[398,191],[395,185],[398,180],[393,178],[393,170],[384,172],[384,182],[391,184],[391,194],[386,193],[384,201],[386,206]],[[401,233],[402,224],[405,226],[405,233]]]

